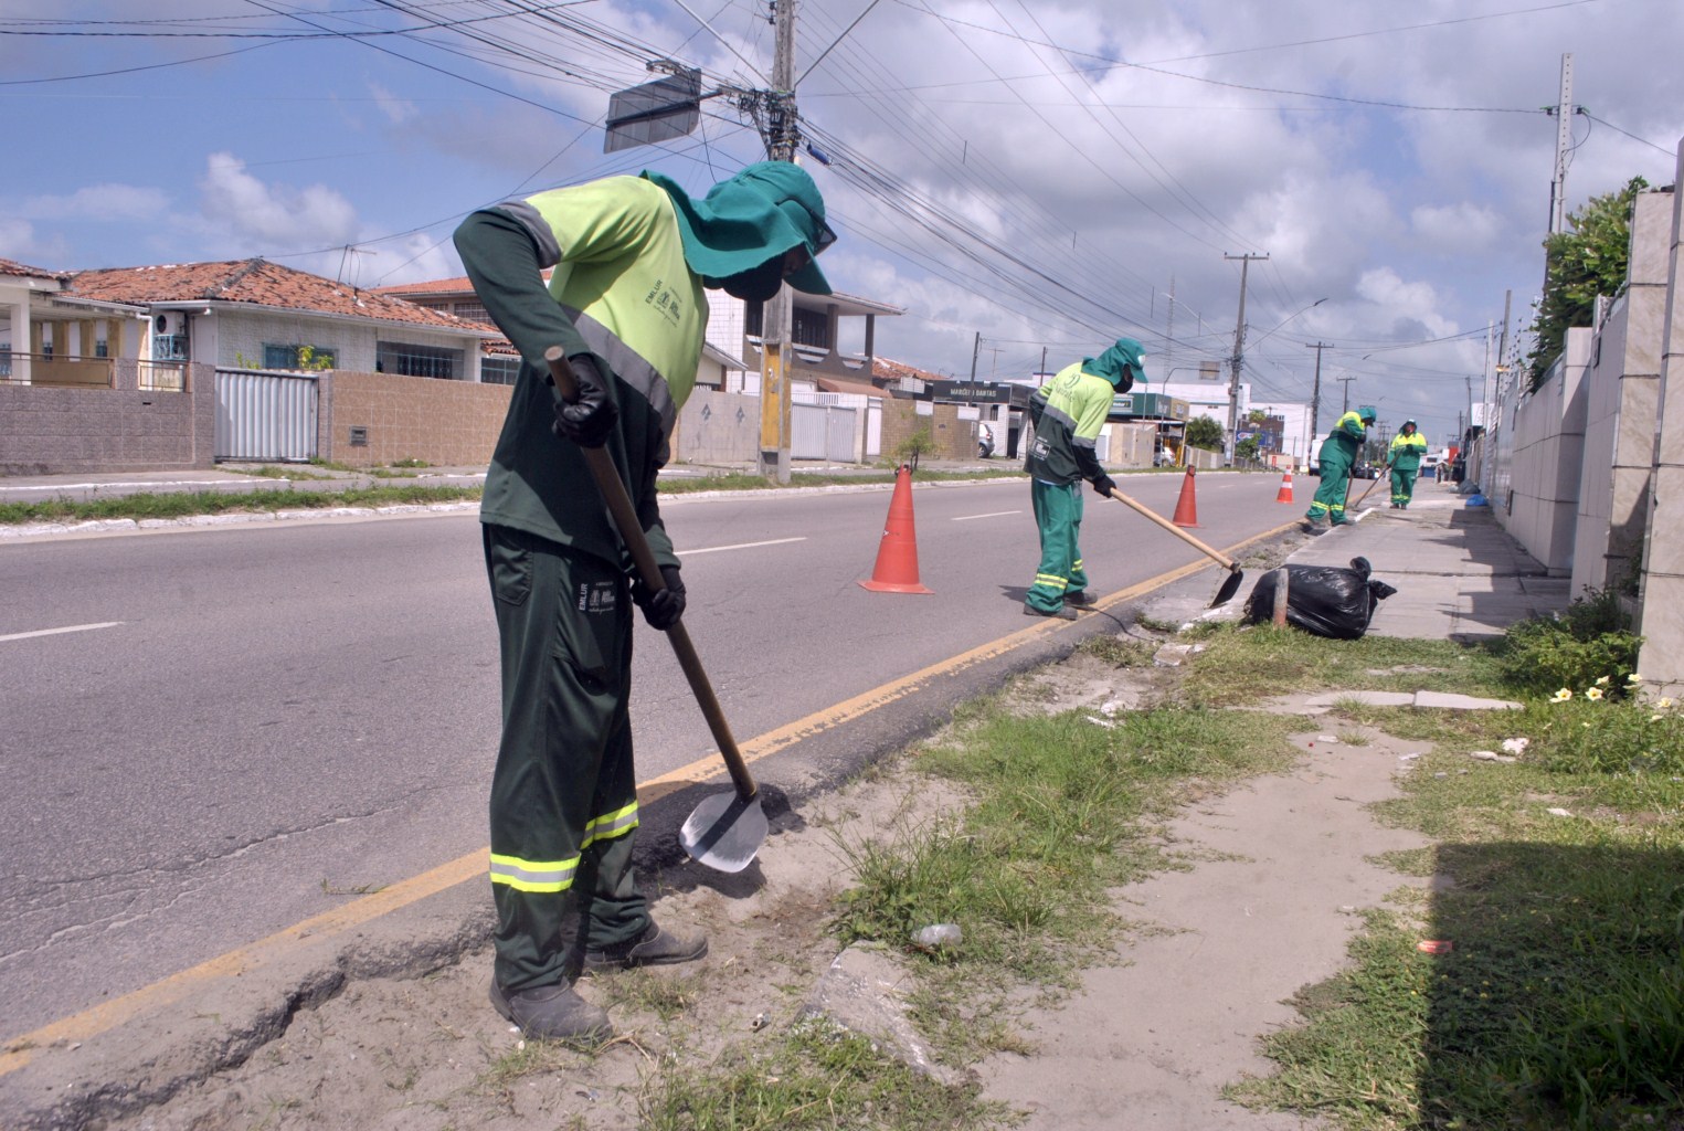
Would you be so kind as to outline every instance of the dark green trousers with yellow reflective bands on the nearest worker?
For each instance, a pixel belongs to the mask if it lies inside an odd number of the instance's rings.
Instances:
[[[504,735],[492,774],[495,978],[566,981],[581,949],[635,939],[632,602],[593,555],[482,526],[502,651]]]

